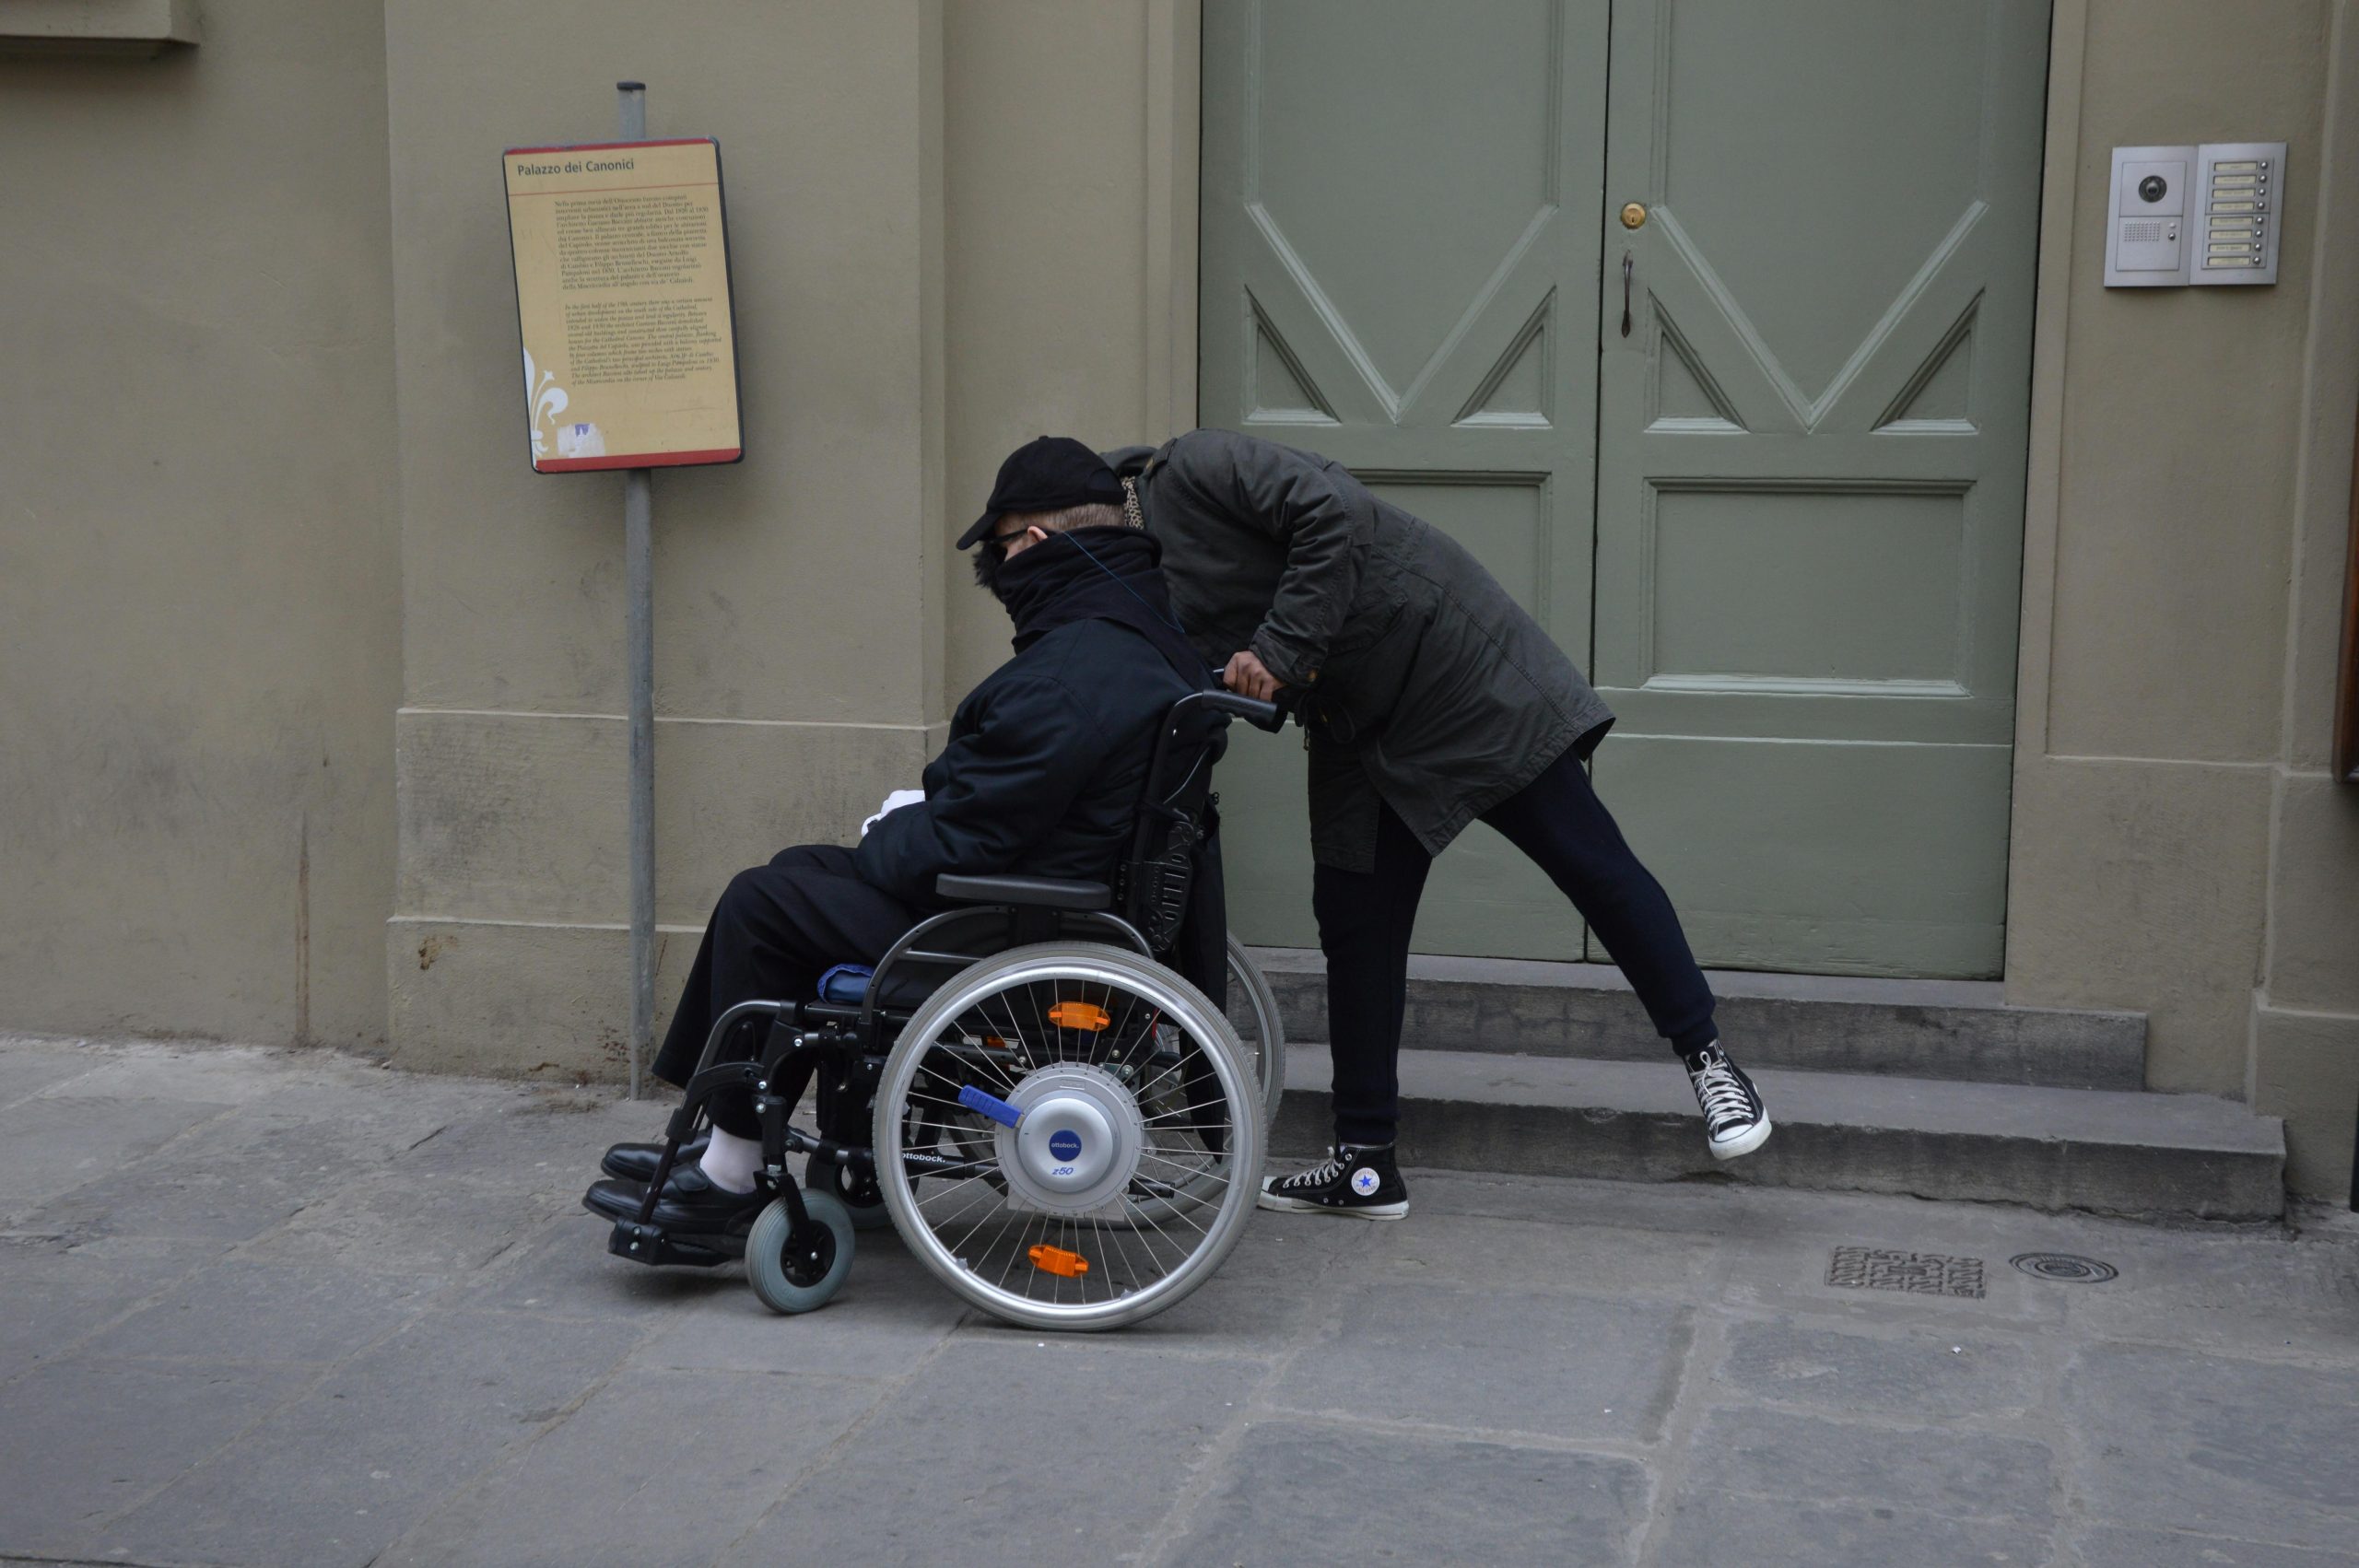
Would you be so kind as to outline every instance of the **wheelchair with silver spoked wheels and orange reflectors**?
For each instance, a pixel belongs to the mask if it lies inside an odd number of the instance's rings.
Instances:
[[[1210,776],[1231,717],[1283,724],[1227,691],[1170,707],[1113,887],[941,877],[953,908],[873,974],[837,969],[819,997],[715,1019],[639,1212],[613,1221],[606,1250],[727,1261],[712,1238],[668,1236],[653,1210],[712,1094],[741,1087],[762,1127],[755,1181],[771,1193],[745,1276],[774,1311],[823,1306],[854,1236],[887,1224],[972,1306],[1033,1330],[1121,1327],[1203,1285],[1255,1207],[1286,1087],[1276,997],[1236,938],[1227,1007],[1165,962],[1215,825]],[[741,1028],[762,1033],[760,1049],[722,1061]],[[816,1129],[795,1127],[814,1082]]]

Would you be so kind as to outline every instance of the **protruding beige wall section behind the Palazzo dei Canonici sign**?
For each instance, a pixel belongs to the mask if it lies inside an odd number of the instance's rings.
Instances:
[[[939,740],[941,7],[394,0],[401,601],[394,1054],[625,1042],[623,521],[526,462],[498,151],[722,144],[745,460],[656,474],[658,1030],[729,872],[849,839]]]

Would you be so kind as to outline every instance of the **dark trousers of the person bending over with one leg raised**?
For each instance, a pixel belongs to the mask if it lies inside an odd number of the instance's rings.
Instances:
[[[1656,1033],[1673,1049],[1715,1040],[1713,988],[1687,948],[1663,884],[1640,865],[1621,828],[1590,788],[1573,752],[1484,811],[1573,901],[1606,953],[1630,976]],[[1328,962],[1328,1049],[1335,1054],[1335,1141],[1389,1144],[1401,1115],[1401,1007],[1408,986],[1408,931],[1432,856],[1392,806],[1375,832],[1375,868],[1319,865],[1312,908]]]

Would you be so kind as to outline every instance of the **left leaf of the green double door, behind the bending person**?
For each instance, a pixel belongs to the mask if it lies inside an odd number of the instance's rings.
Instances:
[[[1208,0],[1203,26],[1203,422],[1347,465],[1576,658],[1604,45],[1602,0]],[[1243,736],[1222,802],[1231,924],[1309,946],[1300,747]],[[1415,943],[1573,957],[1581,924],[1474,828]]]

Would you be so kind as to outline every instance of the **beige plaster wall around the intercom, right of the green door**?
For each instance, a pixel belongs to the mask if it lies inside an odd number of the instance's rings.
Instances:
[[[2359,809],[2324,773],[2359,410],[2342,0],[2059,0],[2008,997],[2149,1014],[2161,1089],[2347,1188]],[[2107,290],[2111,149],[2284,137],[2276,288]]]

